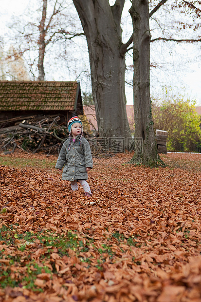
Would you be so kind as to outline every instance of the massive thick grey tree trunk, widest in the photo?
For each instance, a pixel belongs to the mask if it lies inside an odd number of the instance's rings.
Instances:
[[[121,13],[125,0],[73,0],[87,38],[99,134],[131,137],[126,113],[125,51]]]

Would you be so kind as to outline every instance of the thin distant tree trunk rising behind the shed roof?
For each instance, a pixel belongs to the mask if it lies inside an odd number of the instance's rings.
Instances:
[[[45,20],[46,20],[46,13],[47,13],[47,0],[43,0],[42,6],[42,18],[39,24],[39,39],[38,39],[38,46],[39,46],[39,54],[38,54],[38,81],[44,81],[45,79],[45,72],[44,72],[44,56],[45,56]]]

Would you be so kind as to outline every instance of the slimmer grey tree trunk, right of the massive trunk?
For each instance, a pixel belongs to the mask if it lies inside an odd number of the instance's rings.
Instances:
[[[129,10],[133,22],[133,95],[135,121],[135,154],[133,163],[158,166],[162,162],[157,152],[151,114],[149,69],[150,31],[148,0],[132,0]],[[139,148],[141,140],[141,148]]]

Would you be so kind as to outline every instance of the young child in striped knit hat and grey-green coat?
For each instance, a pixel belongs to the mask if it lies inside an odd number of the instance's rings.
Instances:
[[[59,153],[55,168],[63,168],[62,180],[69,180],[73,191],[78,189],[79,182],[85,190],[86,196],[91,196],[91,189],[86,181],[87,172],[93,168],[89,142],[82,137],[82,122],[72,117],[68,122],[69,138],[64,142]]]

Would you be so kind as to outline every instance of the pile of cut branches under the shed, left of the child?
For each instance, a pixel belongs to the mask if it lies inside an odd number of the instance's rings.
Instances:
[[[18,118],[16,118],[18,119]],[[0,148],[9,154],[19,148],[36,153],[57,153],[63,141],[68,137],[67,127],[59,124],[58,115],[30,116],[15,126],[0,128]],[[0,127],[6,121],[0,122]]]

